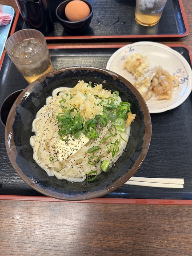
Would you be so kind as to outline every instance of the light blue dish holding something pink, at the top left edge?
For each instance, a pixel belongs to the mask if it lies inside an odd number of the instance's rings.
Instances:
[[[0,12],[11,14],[12,18],[9,24],[0,26],[0,58],[4,50],[5,42],[8,38],[8,33],[12,25],[15,11],[11,6],[0,4]]]

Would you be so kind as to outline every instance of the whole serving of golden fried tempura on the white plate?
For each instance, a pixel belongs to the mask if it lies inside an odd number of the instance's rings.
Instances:
[[[179,85],[175,76],[164,70],[160,65],[148,67],[148,57],[141,52],[133,52],[128,55],[124,68],[136,76],[134,86],[148,100],[153,92],[158,100],[169,100],[172,97],[172,89]]]

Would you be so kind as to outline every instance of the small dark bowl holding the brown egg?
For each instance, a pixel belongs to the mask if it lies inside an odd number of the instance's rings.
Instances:
[[[59,20],[60,24],[64,27],[64,29],[67,32],[72,33],[72,34],[79,34],[79,33],[83,32],[85,29],[87,29],[89,24],[91,23],[92,16],[93,16],[93,9],[92,9],[92,5],[88,1],[82,0],[90,8],[89,16],[87,18],[85,18],[84,20],[69,21],[65,15],[65,7],[71,1],[72,0],[66,0],[57,6],[56,17]]]

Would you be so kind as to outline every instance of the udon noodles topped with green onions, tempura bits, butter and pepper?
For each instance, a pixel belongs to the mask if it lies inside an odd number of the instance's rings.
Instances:
[[[36,114],[30,138],[33,158],[48,176],[80,182],[111,168],[124,152],[135,118],[118,94],[84,81],[53,90]]]

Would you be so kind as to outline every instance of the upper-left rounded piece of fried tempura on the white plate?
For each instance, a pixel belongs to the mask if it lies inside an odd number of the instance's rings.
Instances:
[[[148,68],[148,57],[140,52],[133,52],[127,56],[123,68],[127,68],[136,79],[142,75],[143,70]]]

